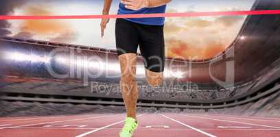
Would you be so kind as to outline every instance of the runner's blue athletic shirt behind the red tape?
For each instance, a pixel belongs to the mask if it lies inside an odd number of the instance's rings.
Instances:
[[[161,5],[155,8],[142,8],[140,10],[130,10],[125,7],[124,4],[119,3],[119,10],[117,14],[153,14],[153,13],[165,13],[166,5]],[[127,21],[144,25],[163,25],[165,18],[124,18]]]

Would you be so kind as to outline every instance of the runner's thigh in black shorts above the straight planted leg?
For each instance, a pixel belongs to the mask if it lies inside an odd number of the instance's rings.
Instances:
[[[139,34],[132,22],[118,18],[115,25],[115,38],[118,55],[137,53]]]

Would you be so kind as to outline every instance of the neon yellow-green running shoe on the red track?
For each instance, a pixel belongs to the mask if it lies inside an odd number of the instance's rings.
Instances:
[[[119,137],[132,137],[132,134],[137,127],[138,123],[135,119],[130,117],[126,118],[124,127],[121,129],[121,132],[119,132]]]

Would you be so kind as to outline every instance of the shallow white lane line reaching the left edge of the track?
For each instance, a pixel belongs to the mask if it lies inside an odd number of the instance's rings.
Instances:
[[[89,117],[89,118],[84,118],[84,119],[71,119],[71,120],[65,120],[65,121],[51,121],[51,122],[47,122],[47,123],[36,123],[36,124],[28,124],[28,125],[17,125],[17,126],[12,126],[12,127],[0,127],[0,129],[8,129],[8,128],[16,128],[16,127],[27,127],[27,126],[33,126],[33,125],[43,125],[43,124],[60,123],[60,122],[69,122],[69,121],[82,121],[82,120],[87,120],[87,119],[98,119],[98,118],[104,118],[104,117],[110,117],[110,116],[115,116],[115,115],[109,115],[109,116],[94,116],[94,117]]]

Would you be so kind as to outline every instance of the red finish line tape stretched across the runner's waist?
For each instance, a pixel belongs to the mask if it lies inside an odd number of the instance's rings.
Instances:
[[[163,14],[109,14],[109,15],[67,15],[67,16],[0,16],[0,20],[50,20],[50,19],[93,19],[93,18],[155,18],[189,16],[239,16],[280,14],[280,10],[253,10],[228,12],[179,12]]]

